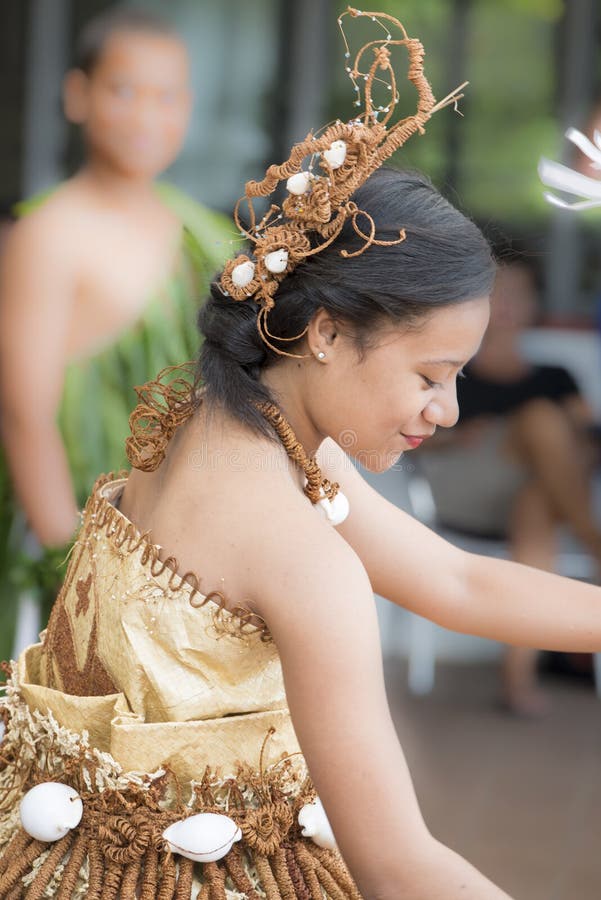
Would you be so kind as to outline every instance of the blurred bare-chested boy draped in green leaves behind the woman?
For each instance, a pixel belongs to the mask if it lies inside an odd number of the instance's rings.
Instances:
[[[4,511],[0,658],[16,593],[53,599],[78,510],[95,478],[125,463],[133,386],[196,355],[196,307],[218,238],[231,237],[226,220],[154,182],[192,106],[187,51],[166,23],[128,10],[90,22],[64,104],[84,165],[26,204],[0,272],[2,437],[27,526]]]

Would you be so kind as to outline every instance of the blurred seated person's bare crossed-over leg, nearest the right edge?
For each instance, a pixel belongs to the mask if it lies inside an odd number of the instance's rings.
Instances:
[[[590,473],[564,410],[548,400],[528,403],[512,417],[508,451],[528,467],[557,519],[570,526],[601,564],[601,529],[592,511]]]

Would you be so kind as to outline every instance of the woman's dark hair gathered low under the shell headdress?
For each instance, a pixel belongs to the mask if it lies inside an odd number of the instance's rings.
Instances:
[[[414,329],[440,307],[490,293],[495,264],[487,241],[423,175],[379,169],[353,200],[373,217],[377,238],[394,240],[405,228],[406,239],[389,247],[372,245],[361,256],[346,259],[342,248],[357,250],[363,243],[347,222],[330,247],[284,278],[269,313],[272,334],[299,334],[323,308],[350,330],[361,355],[386,323]],[[211,285],[198,317],[204,336],[198,378],[207,400],[267,434],[271,432],[255,404],[273,398],[259,376],[281,357],[263,343],[257,312],[252,299],[235,302],[223,295],[218,282]],[[300,344],[282,348],[298,352]]]

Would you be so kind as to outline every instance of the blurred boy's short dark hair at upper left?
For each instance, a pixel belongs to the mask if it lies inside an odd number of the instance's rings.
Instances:
[[[109,39],[126,31],[179,39],[177,32],[161,16],[136,7],[109,9],[90,19],[82,28],[75,44],[75,68],[90,75]]]

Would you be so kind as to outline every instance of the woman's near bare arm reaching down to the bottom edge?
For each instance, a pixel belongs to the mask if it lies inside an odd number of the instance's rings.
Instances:
[[[365,900],[508,900],[424,824],[391,721],[371,585],[304,498],[262,511],[253,605],[280,651],[292,720]],[[276,515],[276,512],[279,512]],[[256,535],[256,543],[255,543]]]

